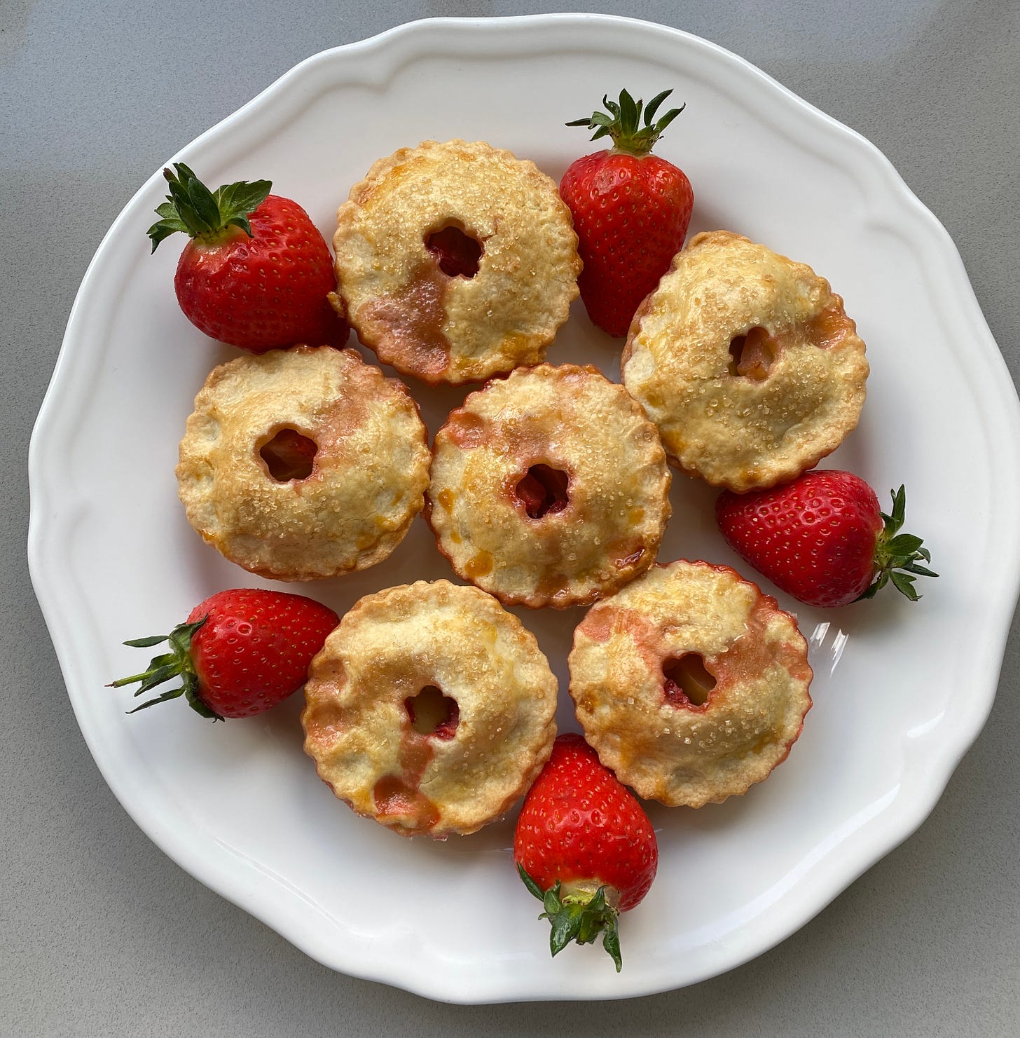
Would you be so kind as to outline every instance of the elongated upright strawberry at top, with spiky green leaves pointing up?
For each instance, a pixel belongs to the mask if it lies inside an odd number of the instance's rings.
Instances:
[[[563,174],[559,194],[574,217],[584,269],[578,278],[588,317],[610,335],[627,334],[634,311],[659,283],[680,251],[691,219],[691,183],[672,163],[652,155],[662,131],[684,110],[657,122],[656,112],[672,93],[664,90],[644,110],[626,91],[619,104],[592,112],[569,127],[595,130],[592,140],[611,137],[613,146],[578,159]]]

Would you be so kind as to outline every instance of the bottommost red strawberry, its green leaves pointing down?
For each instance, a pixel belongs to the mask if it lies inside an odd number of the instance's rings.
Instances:
[[[581,736],[556,738],[521,809],[514,861],[545,905],[552,954],[601,934],[618,973],[616,917],[649,893],[659,848],[641,805]]]

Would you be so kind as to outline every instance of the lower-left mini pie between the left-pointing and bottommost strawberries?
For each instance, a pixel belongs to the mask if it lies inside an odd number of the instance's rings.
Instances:
[[[362,598],[312,660],[305,700],[320,777],[402,836],[494,821],[556,736],[556,679],[534,635],[447,580]]]

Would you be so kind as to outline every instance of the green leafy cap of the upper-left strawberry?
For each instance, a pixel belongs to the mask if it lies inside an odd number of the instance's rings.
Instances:
[[[183,162],[175,162],[173,169],[163,170],[170,193],[157,207],[160,219],[146,231],[153,252],[164,238],[178,230],[205,244],[221,241],[230,227],[240,227],[251,237],[248,217],[266,200],[273,187],[271,181],[238,181],[210,191]]]

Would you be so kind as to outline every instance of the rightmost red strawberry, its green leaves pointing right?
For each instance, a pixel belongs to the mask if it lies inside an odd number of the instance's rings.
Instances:
[[[853,472],[823,469],[749,494],[723,491],[716,522],[726,543],[777,588],[808,605],[847,605],[873,598],[890,582],[915,602],[920,565],[932,556],[919,537],[901,534],[906,493],[892,512]]]

